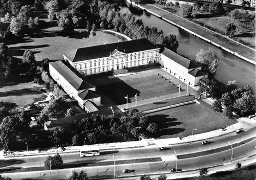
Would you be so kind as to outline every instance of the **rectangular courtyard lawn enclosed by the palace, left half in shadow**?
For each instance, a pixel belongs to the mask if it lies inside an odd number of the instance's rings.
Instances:
[[[137,101],[139,101],[178,92],[177,86],[157,74],[141,78],[134,76],[131,80],[106,84],[98,88],[117,105],[125,104],[124,96],[127,95],[129,97],[128,102],[134,102],[136,93]]]

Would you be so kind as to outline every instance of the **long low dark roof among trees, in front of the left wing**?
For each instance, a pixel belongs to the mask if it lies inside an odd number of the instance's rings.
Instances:
[[[57,127],[70,125],[75,120],[80,121],[83,118],[90,118],[93,114],[105,115],[105,116],[108,116],[108,117],[114,117],[114,114],[113,114],[112,110],[108,108],[108,109],[102,109],[102,110],[98,110],[98,111],[95,111],[95,112],[80,114],[80,115],[76,115],[76,116],[72,116],[72,117],[68,117],[68,118],[62,118],[62,119],[57,119],[57,120],[53,120],[53,121],[47,121],[47,122],[45,122],[45,125],[47,126],[47,128],[49,130],[55,130]]]

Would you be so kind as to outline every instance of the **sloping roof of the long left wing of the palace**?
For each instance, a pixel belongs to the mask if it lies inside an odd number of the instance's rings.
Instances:
[[[95,87],[92,84],[89,84],[83,81],[80,77],[78,77],[73,71],[71,71],[67,65],[65,65],[61,61],[50,62],[53,68],[63,77],[65,78],[77,91],[82,89],[90,89]]]

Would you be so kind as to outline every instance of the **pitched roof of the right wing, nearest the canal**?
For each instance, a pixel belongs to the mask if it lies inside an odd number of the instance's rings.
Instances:
[[[170,51],[166,48],[163,50],[162,54],[165,55],[166,57],[174,60],[175,62],[179,63],[186,69],[194,69],[194,68],[201,67],[199,64],[192,62],[192,61],[188,60],[187,58],[184,58],[181,55],[179,55],[173,51]]]

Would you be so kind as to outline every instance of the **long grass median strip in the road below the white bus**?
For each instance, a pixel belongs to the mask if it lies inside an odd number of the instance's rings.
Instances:
[[[149,162],[160,162],[161,158],[144,158],[144,159],[134,159],[134,160],[122,160],[115,161],[116,165],[120,164],[136,164],[136,163],[149,163]],[[77,167],[92,167],[92,166],[110,166],[114,165],[113,161],[97,162],[95,161],[75,161],[71,163],[64,163],[59,169],[77,168]],[[14,173],[14,172],[28,172],[28,171],[46,171],[48,170],[45,166],[42,167],[31,167],[31,168],[16,168],[11,167],[8,169],[0,169],[0,173]]]

